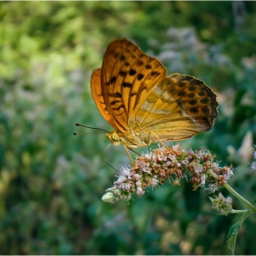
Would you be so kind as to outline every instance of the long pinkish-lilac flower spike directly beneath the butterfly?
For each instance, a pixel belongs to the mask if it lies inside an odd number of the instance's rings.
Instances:
[[[120,199],[130,200],[134,193],[142,196],[146,187],[164,184],[166,179],[179,185],[183,177],[189,178],[194,190],[205,187],[208,180],[208,190],[214,192],[233,176],[232,166],[220,168],[213,161],[214,157],[207,150],[187,151],[179,144],[159,146],[153,152],[138,156],[132,167],[123,167],[102,200],[110,203]]]

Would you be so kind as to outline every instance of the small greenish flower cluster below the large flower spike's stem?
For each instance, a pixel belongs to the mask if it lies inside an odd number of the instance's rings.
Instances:
[[[212,198],[209,197],[214,209],[216,209],[220,215],[228,215],[232,210],[232,198],[225,198],[221,193],[219,193],[219,197]]]

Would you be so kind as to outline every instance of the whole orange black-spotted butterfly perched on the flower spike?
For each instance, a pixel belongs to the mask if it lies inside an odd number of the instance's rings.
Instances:
[[[114,131],[114,145],[133,149],[179,141],[208,131],[218,116],[216,95],[202,80],[178,73],[127,39],[112,41],[101,69],[91,75],[91,94]],[[128,154],[129,155],[129,154]]]

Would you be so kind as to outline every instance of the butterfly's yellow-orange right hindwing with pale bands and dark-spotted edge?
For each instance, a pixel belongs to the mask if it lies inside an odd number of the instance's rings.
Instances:
[[[163,141],[181,140],[208,131],[218,115],[217,106],[216,95],[202,80],[172,74],[135,109],[130,126],[153,132]]]

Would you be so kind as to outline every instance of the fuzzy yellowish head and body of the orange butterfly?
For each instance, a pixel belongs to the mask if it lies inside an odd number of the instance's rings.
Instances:
[[[107,133],[106,136],[109,139],[109,141],[114,145],[123,144],[130,148],[138,148],[148,145],[148,133],[144,132],[122,133],[112,131],[111,133]]]

